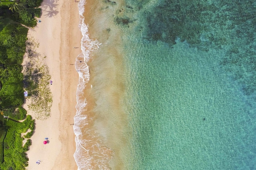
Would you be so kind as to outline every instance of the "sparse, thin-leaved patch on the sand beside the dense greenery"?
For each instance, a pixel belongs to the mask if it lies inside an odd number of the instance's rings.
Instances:
[[[29,42],[28,42],[29,41]],[[52,106],[52,92],[50,91],[50,74],[48,67],[42,63],[45,57],[36,53],[38,47],[32,38],[27,41],[27,54],[29,61],[24,68],[25,88],[31,104],[28,108],[34,112],[35,118],[45,120],[50,117]]]

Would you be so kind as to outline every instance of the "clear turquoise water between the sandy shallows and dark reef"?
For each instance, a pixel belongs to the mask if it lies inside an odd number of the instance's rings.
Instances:
[[[167,48],[148,45],[148,55],[133,63],[134,169],[237,169],[245,160],[254,166],[250,99],[218,66],[222,53],[180,42]]]

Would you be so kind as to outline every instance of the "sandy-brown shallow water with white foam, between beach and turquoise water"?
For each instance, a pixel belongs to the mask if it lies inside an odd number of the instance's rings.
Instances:
[[[129,137],[126,109],[121,103],[125,74],[118,44],[120,33],[108,20],[112,12],[105,15],[100,11],[104,3],[82,0],[78,6],[83,55],[76,59],[80,78],[74,117],[74,157],[80,170],[123,169],[129,152],[122,150],[128,150]],[[128,159],[123,159],[121,154],[126,154]]]

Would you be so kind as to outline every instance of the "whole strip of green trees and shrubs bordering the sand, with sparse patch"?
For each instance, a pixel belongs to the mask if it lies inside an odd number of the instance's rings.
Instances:
[[[24,104],[24,87],[31,94],[32,99],[37,97],[38,107],[42,107],[39,100],[46,98],[51,106],[50,96],[40,96],[40,87],[49,79],[48,68],[43,64],[34,69],[31,64],[26,65],[24,75],[22,61],[25,52],[29,57],[38,57],[34,47],[38,46],[27,38],[28,28],[20,23],[34,27],[40,17],[38,8],[42,0],[0,0],[0,169],[24,170],[28,166],[28,151],[32,141],[29,139],[35,129],[35,121],[26,115]],[[27,51],[26,51],[26,47]],[[29,51],[30,50],[30,51]],[[38,61],[38,60],[37,60]],[[34,69],[34,70],[33,70]],[[35,80],[38,80],[34,82]],[[49,86],[49,85],[48,85]],[[48,92],[48,91],[47,91]],[[49,97],[49,98],[48,98]],[[50,103],[49,103],[50,101]],[[36,108],[36,106],[34,106]],[[48,110],[48,109],[46,109]],[[3,116],[5,118],[3,118]],[[7,119],[6,119],[7,118]],[[26,119],[25,119],[26,118]],[[25,120],[24,120],[25,119]],[[18,120],[24,120],[19,122]],[[21,134],[24,134],[22,136]]]

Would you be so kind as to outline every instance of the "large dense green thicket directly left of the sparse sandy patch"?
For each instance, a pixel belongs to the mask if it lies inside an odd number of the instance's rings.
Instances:
[[[17,112],[24,103],[22,60],[28,29],[8,24],[0,32],[0,109],[4,115]],[[24,117],[23,117],[24,118]]]

